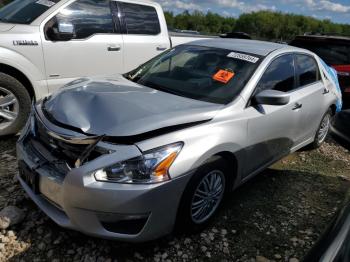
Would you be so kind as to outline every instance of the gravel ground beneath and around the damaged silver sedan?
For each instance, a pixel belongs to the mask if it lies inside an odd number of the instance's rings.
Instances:
[[[297,262],[350,185],[350,154],[329,141],[283,159],[232,193],[207,230],[132,245],[87,237],[47,218],[14,179],[15,141],[0,141],[0,210],[17,206],[25,218],[0,231],[0,261]]]

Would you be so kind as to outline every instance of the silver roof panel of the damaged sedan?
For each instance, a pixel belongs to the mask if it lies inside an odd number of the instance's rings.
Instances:
[[[267,56],[275,50],[288,47],[286,45],[272,42],[227,38],[203,39],[191,42],[190,44],[205,47],[222,48],[231,51],[250,53],[260,56]]]

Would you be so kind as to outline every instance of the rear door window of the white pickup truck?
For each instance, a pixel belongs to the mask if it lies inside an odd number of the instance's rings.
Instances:
[[[130,3],[120,3],[124,15],[127,34],[157,35],[160,23],[154,7]]]

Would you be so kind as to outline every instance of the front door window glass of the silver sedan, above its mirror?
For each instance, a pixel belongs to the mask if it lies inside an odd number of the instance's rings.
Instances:
[[[288,54],[276,58],[269,65],[259,81],[256,94],[269,89],[289,92],[295,87],[294,56]]]

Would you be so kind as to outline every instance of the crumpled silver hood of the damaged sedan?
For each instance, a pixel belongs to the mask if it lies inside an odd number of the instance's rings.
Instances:
[[[141,86],[122,76],[78,79],[44,104],[46,114],[60,124],[114,137],[210,120],[222,107]]]

